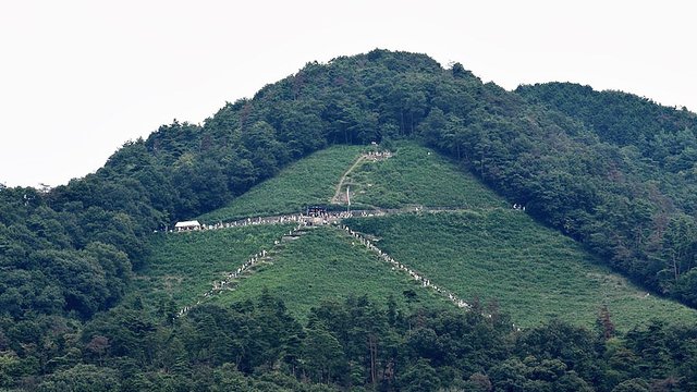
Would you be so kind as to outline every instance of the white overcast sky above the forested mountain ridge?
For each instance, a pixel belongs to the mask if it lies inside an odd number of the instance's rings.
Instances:
[[[696,111],[693,3],[0,0],[0,183],[64,184],[173,119],[375,48],[506,89],[568,81]]]

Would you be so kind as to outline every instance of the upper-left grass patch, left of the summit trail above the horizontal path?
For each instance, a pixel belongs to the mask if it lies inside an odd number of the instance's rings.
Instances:
[[[365,149],[365,146],[333,146],[317,151],[253,187],[227,207],[200,216],[199,220],[215,223],[299,212],[308,205],[329,204],[339,180]]]

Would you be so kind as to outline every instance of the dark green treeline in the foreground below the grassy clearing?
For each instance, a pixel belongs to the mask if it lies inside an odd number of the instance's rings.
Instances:
[[[475,303],[476,304],[476,303]],[[482,316],[491,313],[491,316]],[[496,306],[404,314],[365,297],[301,322],[268,292],[180,319],[130,301],[45,341],[0,320],[0,388],[37,391],[694,391],[697,329],[517,331]],[[50,322],[50,320],[47,320]],[[15,335],[22,335],[17,339]],[[24,341],[7,345],[7,340]],[[42,350],[38,350],[38,348]],[[7,354],[8,351],[13,354]],[[44,351],[53,355],[48,359]]]

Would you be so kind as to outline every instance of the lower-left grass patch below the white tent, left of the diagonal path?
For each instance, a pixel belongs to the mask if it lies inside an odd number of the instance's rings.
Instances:
[[[157,304],[172,298],[182,307],[191,305],[250,255],[270,249],[292,225],[253,225],[213,231],[170,233],[154,236],[146,268],[136,274],[136,290],[144,299]]]

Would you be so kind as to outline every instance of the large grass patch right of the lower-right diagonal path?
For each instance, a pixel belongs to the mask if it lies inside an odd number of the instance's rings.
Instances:
[[[578,244],[519,211],[403,215],[347,223],[375,235],[377,245],[396,260],[461,297],[497,299],[524,327],[552,317],[592,327],[603,304],[623,331],[651,318],[697,322],[694,309],[646,297]]]

